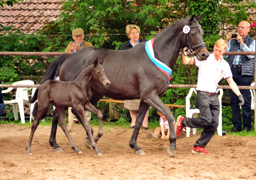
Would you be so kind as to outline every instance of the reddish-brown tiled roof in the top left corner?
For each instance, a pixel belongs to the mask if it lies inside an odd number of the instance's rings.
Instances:
[[[24,33],[42,30],[46,22],[60,18],[64,0],[24,0],[14,6],[0,6],[0,22],[3,26],[16,26]]]

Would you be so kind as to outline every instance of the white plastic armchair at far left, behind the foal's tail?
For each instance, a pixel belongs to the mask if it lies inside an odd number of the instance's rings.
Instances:
[[[15,83],[12,83],[13,85],[34,85],[34,81],[31,80],[24,80],[24,81],[18,81]],[[9,87],[6,90],[2,90],[2,93],[8,93],[12,91],[13,87]],[[13,105],[13,112],[14,112],[14,119],[18,119],[18,107],[20,110],[20,120],[21,123],[25,123],[25,115],[24,115],[24,102],[28,103],[28,91],[32,88],[26,88],[26,87],[17,87],[16,91],[16,98],[10,101],[4,101],[4,104],[12,104]],[[28,103],[29,107],[30,104]]]

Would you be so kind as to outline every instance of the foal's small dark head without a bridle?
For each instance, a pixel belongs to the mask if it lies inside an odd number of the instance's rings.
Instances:
[[[102,83],[105,87],[110,87],[110,81],[108,80],[105,71],[102,67],[102,63],[104,62],[105,58],[98,61],[98,58],[95,59],[94,61],[94,70],[92,77],[96,80]]]

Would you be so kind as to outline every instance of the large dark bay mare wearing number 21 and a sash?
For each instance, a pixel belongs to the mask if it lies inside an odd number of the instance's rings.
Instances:
[[[192,16],[191,18],[178,20],[162,30],[154,38],[154,56],[171,69],[174,67],[182,47],[189,47],[192,49],[191,51],[195,51],[198,60],[206,60],[209,52],[203,41],[203,30],[198,23],[203,16],[204,14],[196,18]],[[190,26],[188,34],[183,32],[185,25]],[[136,125],[129,144],[136,154],[145,154],[137,146],[136,140],[146,111],[151,105],[168,119],[170,126],[168,152],[171,156],[175,156],[176,133],[173,126],[174,117],[159,98],[168,89],[169,77],[162,73],[150,60],[145,50],[145,43],[140,43],[128,50],[86,47],[73,54],[60,55],[49,65],[42,83],[47,79],[54,79],[56,76],[59,76],[61,81],[74,80],[74,75],[84,65],[90,65],[95,57],[106,57],[103,67],[108,79],[111,81],[111,87],[106,88],[101,83],[93,81],[91,84],[93,96],[90,100],[92,105],[103,96],[117,100],[141,99]],[[49,140],[54,147],[54,152],[61,150],[55,138],[57,123],[58,114],[54,111],[52,132]]]

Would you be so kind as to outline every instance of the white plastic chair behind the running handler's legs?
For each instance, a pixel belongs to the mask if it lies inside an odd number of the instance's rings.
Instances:
[[[198,114],[200,113],[199,109],[190,109],[190,97],[192,96],[192,93],[196,93],[196,88],[191,88],[188,95],[186,96],[186,117],[198,117]],[[220,92],[220,95],[218,96],[218,99],[220,101],[220,115],[219,115],[219,125],[217,128],[218,135],[222,136],[222,108],[221,108],[221,98],[223,96],[223,89],[217,89],[216,92]],[[187,137],[189,137],[190,133],[190,127],[186,127],[187,130]],[[193,135],[196,135],[196,128],[193,128]]]

